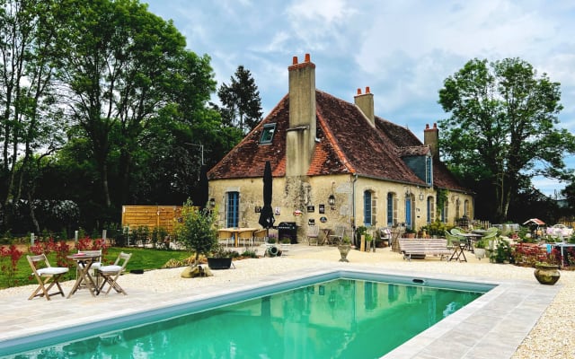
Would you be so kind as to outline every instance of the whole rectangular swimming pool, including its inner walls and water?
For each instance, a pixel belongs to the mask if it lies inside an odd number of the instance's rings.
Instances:
[[[382,282],[394,285],[384,287]],[[95,350],[111,355],[108,351],[116,350],[111,349],[116,344],[120,344],[118,350],[123,350],[123,355],[126,355],[126,348],[129,347],[132,350],[131,355],[137,353],[142,357],[154,357],[151,353],[162,353],[162,357],[181,356],[181,353],[195,353],[192,357],[211,357],[217,348],[223,348],[221,350],[228,353],[227,356],[217,354],[217,357],[334,356],[326,354],[333,352],[318,352],[321,349],[318,346],[323,346],[335,350],[339,357],[378,357],[388,350],[382,345],[384,340],[391,341],[391,348],[398,346],[412,337],[413,333],[417,334],[429,328],[435,321],[463,306],[464,302],[473,301],[493,286],[429,278],[334,272],[233,293],[226,297],[189,302],[92,325],[66,328],[56,335],[22,340],[22,343],[13,346],[13,349],[17,348],[17,352],[22,352],[31,346],[53,346],[45,349],[42,357],[57,357],[63,353],[82,357],[82,351],[93,353]],[[468,298],[464,302],[454,300],[451,297],[453,291],[436,291],[435,288],[438,287],[464,293]],[[290,295],[291,299],[287,299],[287,295]],[[254,297],[259,298],[254,300]],[[346,301],[349,297],[354,300]],[[232,302],[240,303],[233,307],[225,306]],[[415,309],[415,304],[422,306]],[[207,311],[211,308],[217,309]],[[390,317],[392,308],[400,309],[399,314],[394,314],[396,321],[378,323],[381,320],[376,318],[382,314]],[[184,315],[189,312],[200,313],[193,318]],[[412,314],[415,312],[432,315],[428,315],[425,320],[414,320]],[[177,319],[165,320],[170,317]],[[146,324],[158,320],[158,323]],[[183,327],[183,324],[190,322],[193,324],[191,328]],[[247,329],[247,324],[251,324],[252,329]],[[264,324],[269,327],[264,327]],[[136,328],[107,333],[110,328],[120,327]],[[403,335],[401,330],[396,330],[398,327],[414,327],[415,331]],[[175,328],[174,334],[168,334],[168,328]],[[155,334],[143,338],[142,333]],[[54,346],[55,343],[84,337],[90,338],[79,343],[68,342]],[[312,340],[306,341],[309,338]],[[195,344],[192,343],[194,340]],[[187,345],[183,349],[176,349],[183,352],[166,356],[166,348],[174,347],[174,343],[179,342]],[[375,344],[377,350],[385,352],[365,352],[368,344]],[[158,349],[160,347],[161,350]]]

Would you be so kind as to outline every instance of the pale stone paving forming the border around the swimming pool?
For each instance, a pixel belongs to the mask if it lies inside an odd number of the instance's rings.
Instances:
[[[498,281],[473,276],[466,276],[462,280],[443,274],[367,268],[351,264],[345,268],[300,268],[282,274],[280,277],[263,276],[258,283],[245,280],[226,285],[213,285],[203,287],[201,293],[193,293],[193,288],[190,288],[192,289],[190,293],[178,293],[181,294],[178,297],[174,297],[174,293],[130,293],[128,296],[106,297],[97,302],[68,301],[66,302],[68,308],[58,306],[58,311],[47,315],[46,320],[32,321],[27,323],[28,325],[24,320],[20,324],[14,323],[12,327],[9,327],[12,328],[11,330],[2,330],[0,355],[7,353],[7,348],[11,346],[20,346],[26,342],[35,341],[56,330],[67,328],[73,331],[76,326],[87,324],[93,324],[95,327],[98,323],[105,323],[109,320],[114,322],[121,317],[142,314],[146,311],[170,310],[175,306],[186,305],[190,302],[209,302],[218,297],[232,298],[237,293],[257,291],[270,285],[287,285],[316,276],[341,276],[347,272],[496,285],[490,292],[483,294],[479,299],[456,311],[447,319],[441,320],[420,335],[411,338],[402,346],[383,356],[384,358],[491,359],[511,357],[547,306],[553,302],[553,298],[560,289],[560,285],[544,286],[524,280]],[[40,309],[37,310],[40,311],[42,307],[45,307],[44,305],[38,306]],[[82,315],[77,315],[78,311],[81,311]]]

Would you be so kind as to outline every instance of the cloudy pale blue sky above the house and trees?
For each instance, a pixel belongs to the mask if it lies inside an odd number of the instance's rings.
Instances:
[[[250,70],[264,117],[288,93],[292,57],[315,64],[315,85],[353,102],[369,86],[376,116],[423,129],[448,114],[445,79],[473,58],[519,57],[561,83],[558,127],[575,131],[575,2],[572,0],[140,0],[211,58],[217,86]],[[214,100],[217,100],[217,96]],[[575,157],[567,157],[575,168]],[[552,196],[564,183],[537,178]]]

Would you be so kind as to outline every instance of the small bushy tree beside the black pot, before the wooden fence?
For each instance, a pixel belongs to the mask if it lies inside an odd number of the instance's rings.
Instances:
[[[190,199],[181,208],[181,221],[175,225],[178,241],[187,250],[196,253],[195,265],[199,263],[199,255],[207,256],[217,248],[216,211],[192,206]]]

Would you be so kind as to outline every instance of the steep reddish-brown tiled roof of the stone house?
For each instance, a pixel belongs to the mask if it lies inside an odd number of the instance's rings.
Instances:
[[[355,173],[381,180],[425,186],[401,156],[427,153],[429,147],[406,127],[376,118],[375,126],[358,107],[316,90],[316,144],[308,176]],[[275,123],[271,144],[259,144],[263,125]],[[208,172],[210,180],[253,178],[263,175],[270,161],[274,177],[286,174],[286,130],[289,126],[289,96],[253,128],[222,161]],[[435,161],[437,162],[437,161]],[[434,165],[434,180],[442,188],[464,190],[443,165]]]

